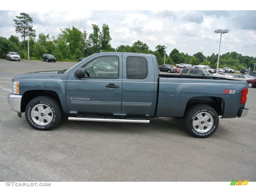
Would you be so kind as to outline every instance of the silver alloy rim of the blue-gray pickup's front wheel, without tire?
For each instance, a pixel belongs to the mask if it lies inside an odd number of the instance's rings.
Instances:
[[[38,125],[47,125],[52,121],[53,113],[49,106],[37,104],[31,110],[31,117]]]

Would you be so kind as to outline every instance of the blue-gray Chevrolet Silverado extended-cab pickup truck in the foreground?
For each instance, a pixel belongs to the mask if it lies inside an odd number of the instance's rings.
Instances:
[[[96,53],[69,69],[26,73],[12,81],[11,109],[19,117],[25,113],[37,130],[56,127],[63,113],[69,120],[131,123],[178,117],[191,135],[208,137],[219,116],[248,112],[247,82],[159,74],[151,54]]]

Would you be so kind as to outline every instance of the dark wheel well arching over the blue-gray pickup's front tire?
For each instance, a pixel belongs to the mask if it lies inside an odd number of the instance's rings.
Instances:
[[[56,92],[54,91],[49,91],[49,90],[32,90],[32,91],[26,91],[23,95],[22,95],[22,102],[21,102],[21,112],[25,112],[26,106],[28,104],[29,101],[31,101],[32,99],[38,97],[38,96],[49,96],[53,99],[55,99],[59,104],[60,104],[60,99],[59,96]],[[61,106],[61,104],[60,104]],[[62,110],[62,109],[61,109]]]

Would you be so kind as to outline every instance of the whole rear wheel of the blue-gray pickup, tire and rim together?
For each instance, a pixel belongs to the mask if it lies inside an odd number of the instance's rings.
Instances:
[[[218,125],[218,113],[209,105],[194,105],[185,114],[185,127],[194,137],[209,137],[217,130]]]

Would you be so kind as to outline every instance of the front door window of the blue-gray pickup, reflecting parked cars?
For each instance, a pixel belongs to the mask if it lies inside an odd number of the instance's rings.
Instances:
[[[116,56],[95,58],[84,66],[86,77],[90,78],[119,78],[119,59]]]

